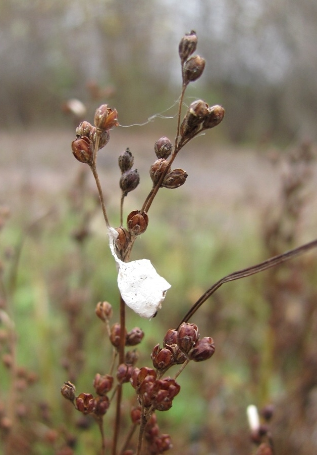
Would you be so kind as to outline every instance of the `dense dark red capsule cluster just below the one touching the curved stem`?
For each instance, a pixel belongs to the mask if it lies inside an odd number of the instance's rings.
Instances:
[[[138,394],[140,405],[157,411],[168,411],[180,386],[172,378],[157,379],[152,368],[142,367],[133,370],[130,382]]]

